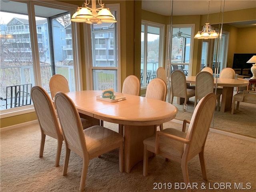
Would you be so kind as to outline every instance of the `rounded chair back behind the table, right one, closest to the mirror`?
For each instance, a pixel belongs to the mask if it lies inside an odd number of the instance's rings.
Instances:
[[[164,80],[160,78],[152,79],[146,90],[146,98],[166,101],[167,86]]]

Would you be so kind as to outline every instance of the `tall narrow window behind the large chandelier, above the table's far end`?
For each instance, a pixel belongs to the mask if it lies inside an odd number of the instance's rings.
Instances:
[[[119,4],[107,5],[119,22]],[[113,88],[120,91],[120,40],[119,23],[102,23],[97,25],[84,24],[88,32],[88,42],[92,50],[88,51],[87,75],[88,89],[105,90]],[[90,28],[90,31],[89,31]],[[88,46],[90,47],[90,46]]]

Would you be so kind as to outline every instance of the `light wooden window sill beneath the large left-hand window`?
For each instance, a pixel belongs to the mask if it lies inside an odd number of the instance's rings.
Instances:
[[[16,115],[22,115],[22,114],[26,114],[26,113],[31,113],[34,111],[35,111],[35,109],[34,109],[33,105],[20,107],[18,110],[17,110],[17,108],[1,110],[0,119],[12,117],[12,116],[16,116]]]

